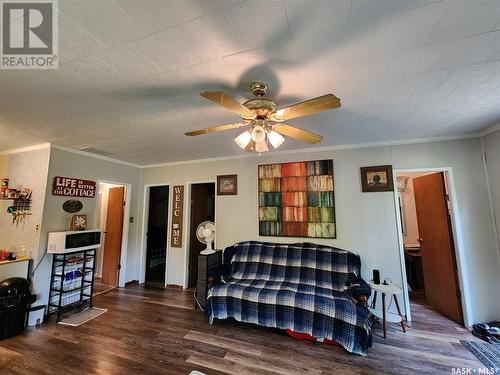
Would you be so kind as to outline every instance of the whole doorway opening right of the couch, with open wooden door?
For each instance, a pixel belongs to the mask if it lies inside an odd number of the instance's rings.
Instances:
[[[446,172],[396,173],[409,299],[464,324]]]

